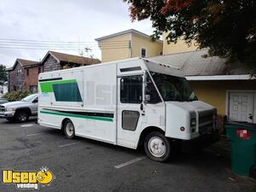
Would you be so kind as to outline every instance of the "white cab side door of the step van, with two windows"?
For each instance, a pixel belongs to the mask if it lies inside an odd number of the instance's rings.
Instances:
[[[118,78],[117,144],[136,148],[144,115],[143,75]]]

